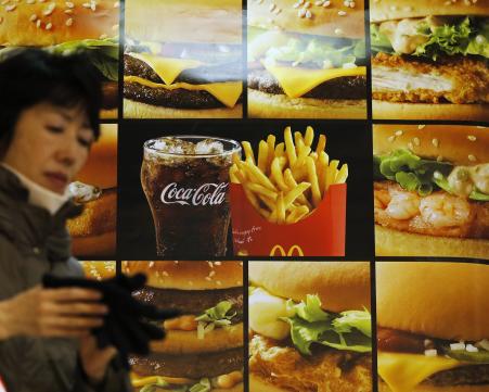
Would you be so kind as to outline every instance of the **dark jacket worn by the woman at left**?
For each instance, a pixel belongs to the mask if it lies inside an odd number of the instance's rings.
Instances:
[[[81,276],[70,255],[66,218],[79,214],[72,202],[52,216],[27,202],[18,178],[0,166],[0,301],[41,282],[46,273]],[[16,337],[0,341],[0,377],[8,392],[126,392],[127,371],[114,359],[104,382],[86,381],[74,339]]]

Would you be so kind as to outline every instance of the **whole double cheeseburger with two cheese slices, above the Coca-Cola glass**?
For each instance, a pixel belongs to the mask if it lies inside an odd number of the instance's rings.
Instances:
[[[128,0],[125,117],[242,117],[241,26],[239,0]]]

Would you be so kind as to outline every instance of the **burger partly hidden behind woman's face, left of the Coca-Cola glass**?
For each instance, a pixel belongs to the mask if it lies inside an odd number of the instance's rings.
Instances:
[[[67,220],[72,251],[77,256],[108,256],[116,251],[117,230],[117,126],[101,126],[101,137],[68,187],[81,215]]]

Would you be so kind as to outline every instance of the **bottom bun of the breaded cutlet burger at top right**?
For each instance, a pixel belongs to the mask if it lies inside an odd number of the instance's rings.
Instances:
[[[456,119],[487,122],[486,103],[400,103],[372,100],[374,119]]]

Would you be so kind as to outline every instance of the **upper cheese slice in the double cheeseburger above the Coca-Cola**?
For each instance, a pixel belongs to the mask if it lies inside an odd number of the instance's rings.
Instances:
[[[166,85],[171,85],[183,71],[203,65],[197,60],[162,58],[151,53],[129,53],[129,55],[151,66]]]

